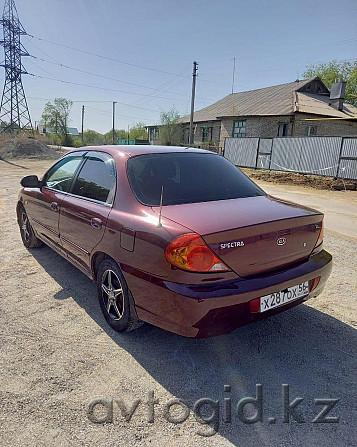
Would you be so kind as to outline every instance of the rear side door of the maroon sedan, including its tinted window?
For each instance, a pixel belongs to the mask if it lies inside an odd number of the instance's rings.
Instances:
[[[90,271],[90,254],[101,241],[116,188],[113,158],[90,151],[60,208],[63,250],[79,267]]]

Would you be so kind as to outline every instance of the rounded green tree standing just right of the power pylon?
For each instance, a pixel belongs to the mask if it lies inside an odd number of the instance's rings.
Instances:
[[[67,126],[69,123],[69,114],[73,102],[66,98],[55,98],[53,103],[48,102],[42,113],[41,121],[50,133],[60,135],[62,143],[68,140]]]

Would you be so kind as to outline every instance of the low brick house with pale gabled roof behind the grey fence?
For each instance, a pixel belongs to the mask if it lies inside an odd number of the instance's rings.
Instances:
[[[357,136],[357,107],[344,102],[345,88],[338,80],[330,92],[314,77],[232,93],[194,113],[194,144],[223,147],[225,137]],[[190,116],[180,122],[188,144]],[[148,130],[154,143],[160,126]]]

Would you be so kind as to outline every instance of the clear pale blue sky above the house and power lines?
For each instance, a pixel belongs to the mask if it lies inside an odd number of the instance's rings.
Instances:
[[[159,123],[172,107],[188,114],[194,60],[199,110],[231,93],[233,58],[237,92],[302,79],[310,64],[357,57],[357,0],[15,4],[31,55],[23,65],[35,75],[23,75],[33,124],[57,97],[73,101],[71,126],[80,128],[84,105],[84,129],[98,132],[112,127],[113,101],[117,129]]]

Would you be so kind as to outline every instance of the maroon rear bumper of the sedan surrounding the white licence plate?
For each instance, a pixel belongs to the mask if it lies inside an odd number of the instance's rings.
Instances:
[[[205,284],[179,284],[136,274],[122,266],[140,319],[186,337],[212,337],[284,312],[319,295],[330,276],[331,255],[322,250],[306,262],[285,271],[253,278]],[[260,313],[249,302],[320,276],[306,298]],[[145,295],[143,295],[143,293]]]

